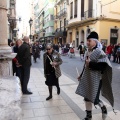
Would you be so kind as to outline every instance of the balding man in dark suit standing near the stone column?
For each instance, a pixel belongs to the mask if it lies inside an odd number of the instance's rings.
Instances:
[[[29,37],[25,36],[23,38],[23,44],[19,47],[17,53],[18,65],[21,66],[21,87],[23,94],[32,94],[27,89],[27,85],[30,78],[30,67],[31,67],[31,54]]]

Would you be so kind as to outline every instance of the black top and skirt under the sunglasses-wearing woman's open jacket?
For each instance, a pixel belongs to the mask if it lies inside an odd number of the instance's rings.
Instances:
[[[50,57],[50,59],[53,61],[52,59],[52,55],[48,55]],[[45,84],[47,86],[58,86],[58,78],[56,78],[55,76],[55,69],[54,67],[52,67],[52,65],[50,64],[50,60],[47,57],[46,59],[46,81]]]

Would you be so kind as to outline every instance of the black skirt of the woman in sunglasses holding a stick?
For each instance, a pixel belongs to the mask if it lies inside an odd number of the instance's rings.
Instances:
[[[45,84],[47,86],[58,86],[58,78],[56,78],[54,72],[46,76]]]

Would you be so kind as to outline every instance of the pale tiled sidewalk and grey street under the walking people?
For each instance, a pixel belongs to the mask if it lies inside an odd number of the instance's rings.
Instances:
[[[32,95],[23,95],[22,109],[23,120],[82,120],[85,116],[85,106],[83,98],[75,94],[78,81],[76,80],[76,67],[82,70],[83,61],[79,59],[76,53],[75,58],[62,56],[61,65],[62,77],[60,78],[61,94],[57,95],[56,88],[53,89],[53,98],[46,101],[48,89],[45,85],[43,75],[42,58],[37,63],[33,63],[31,68],[31,77],[28,88],[33,92]],[[108,117],[106,120],[120,120],[120,65],[113,64],[113,92],[115,97],[115,110],[112,111],[108,102],[101,97],[108,108]],[[101,111],[93,106],[93,119],[102,120]]]

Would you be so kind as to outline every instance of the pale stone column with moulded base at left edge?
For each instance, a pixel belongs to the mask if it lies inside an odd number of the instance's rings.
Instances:
[[[12,75],[15,54],[8,46],[7,37],[7,0],[0,0],[0,77]]]

